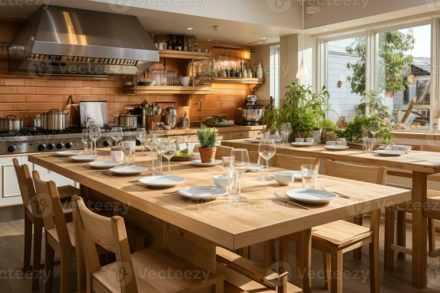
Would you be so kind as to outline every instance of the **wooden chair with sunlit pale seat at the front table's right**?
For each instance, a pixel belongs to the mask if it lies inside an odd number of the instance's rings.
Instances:
[[[385,184],[386,167],[356,166],[326,160],[326,176]],[[342,254],[370,245],[370,289],[379,292],[379,226],[380,210],[371,212],[370,228],[348,221],[336,221],[312,228],[312,248],[323,252],[326,289],[342,292]],[[301,233],[293,233],[280,239],[280,260],[289,260],[288,241],[296,242],[297,263],[301,262]]]

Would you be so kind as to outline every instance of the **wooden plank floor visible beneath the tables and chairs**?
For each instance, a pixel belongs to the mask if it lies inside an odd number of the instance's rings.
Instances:
[[[411,286],[411,256],[406,260],[398,260],[394,272],[383,271],[383,221],[381,222],[380,239],[380,286],[381,292],[440,292],[440,265],[438,258],[428,257],[428,287],[417,289]],[[369,225],[369,218],[364,218],[364,226]],[[0,223],[0,292],[1,293],[24,293],[30,292],[31,276],[23,276],[21,272],[23,260],[23,220]],[[436,247],[440,247],[440,235],[437,234]],[[277,245],[278,243],[276,243]],[[295,245],[290,245],[290,264],[295,265]],[[411,247],[411,224],[407,228],[407,247]],[[251,256],[255,261],[261,261],[262,245],[252,246]],[[352,253],[344,254],[344,280],[343,292],[370,292],[368,246],[362,250],[362,260],[353,260]],[[44,251],[43,251],[44,258]],[[73,262],[72,291],[76,292],[76,271]],[[324,289],[323,260],[319,251],[312,253],[312,274],[316,277],[312,280],[313,292],[329,292]],[[293,282],[293,280],[291,280]],[[40,281],[40,289],[43,292],[43,281]],[[59,292],[59,266],[54,271],[54,292]]]

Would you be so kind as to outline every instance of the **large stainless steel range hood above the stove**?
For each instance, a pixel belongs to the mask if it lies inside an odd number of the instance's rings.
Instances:
[[[39,75],[136,75],[159,51],[136,16],[42,6],[9,45],[9,71]]]

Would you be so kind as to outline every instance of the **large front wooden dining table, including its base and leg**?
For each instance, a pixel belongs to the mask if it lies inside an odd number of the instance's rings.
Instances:
[[[99,160],[111,160],[110,148],[99,149]],[[213,176],[222,174],[222,166],[198,167],[190,162],[171,162],[172,175],[186,181],[174,188],[150,188],[141,183],[130,183],[150,176],[148,170],[139,175],[110,177],[90,166],[51,154],[29,156],[29,162],[68,177],[80,184],[86,198],[94,193],[105,195],[114,203],[129,208],[117,212],[126,223],[139,225],[150,238],[150,244],[168,247],[201,268],[216,271],[216,246],[237,250],[245,246],[276,239],[294,232],[302,232],[304,261],[303,292],[311,291],[311,229],[312,227],[352,217],[361,210],[367,213],[411,199],[411,192],[401,188],[324,176],[317,179],[319,187],[351,195],[351,199],[337,198],[325,204],[306,204],[310,210],[282,203],[285,192],[302,188],[301,181],[282,186],[275,181],[261,181],[263,172],[242,174],[242,196],[247,200],[231,202],[227,196],[212,201],[194,201],[178,193],[163,194],[187,186],[209,186]],[[150,156],[136,156],[136,166],[151,166]],[[164,173],[167,168],[165,168]],[[282,169],[270,167],[270,172]],[[141,224],[145,222],[145,224]],[[378,241],[378,240],[377,240]]]

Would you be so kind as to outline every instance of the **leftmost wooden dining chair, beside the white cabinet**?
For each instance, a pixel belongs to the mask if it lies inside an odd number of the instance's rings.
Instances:
[[[38,273],[40,271],[41,239],[44,223],[38,215],[37,197],[35,196],[35,187],[29,167],[26,164],[18,164],[16,158],[12,159],[12,162],[14,164],[15,174],[17,175],[25,215],[23,271],[33,270],[32,289],[37,290],[39,286]],[[57,188],[57,190],[60,197],[64,199],[70,198],[75,194],[80,194],[80,190],[71,185],[61,186]],[[64,209],[62,212],[71,213],[72,210]],[[33,255],[32,266],[30,264],[31,253]]]

